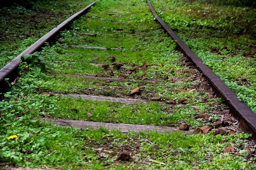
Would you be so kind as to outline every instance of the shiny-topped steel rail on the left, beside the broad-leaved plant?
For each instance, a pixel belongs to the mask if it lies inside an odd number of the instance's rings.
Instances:
[[[37,40],[34,44],[32,44],[30,47],[28,47],[26,50],[24,50],[20,55],[15,57],[11,62],[6,64],[1,70],[0,70],[0,83],[4,82],[4,79],[7,78],[11,73],[13,73],[15,70],[18,69],[20,64],[20,58],[24,54],[33,54],[40,48],[44,46],[44,43],[49,41],[52,37],[56,36],[57,33],[59,33],[61,30],[63,30],[70,22],[74,21],[79,15],[86,12],[92,5],[94,5],[97,2],[95,0],[91,4],[84,7],[82,10],[76,12],[74,15],[60,23],[57,27],[53,28],[50,32],[46,33],[42,38]]]

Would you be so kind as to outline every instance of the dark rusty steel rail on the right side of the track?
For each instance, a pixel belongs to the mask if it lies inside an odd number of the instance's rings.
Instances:
[[[163,26],[165,31],[176,41],[179,50],[190,59],[195,66],[204,74],[209,80],[215,91],[219,96],[225,99],[225,104],[230,107],[234,116],[240,122],[240,128],[246,133],[252,133],[254,140],[256,140],[256,114],[243,102],[241,102],[236,93],[220,80],[220,78],[207,66],[203,61],[180,39],[180,37],[172,31],[172,29],[156,15],[152,4],[148,1],[149,8],[156,20]]]

